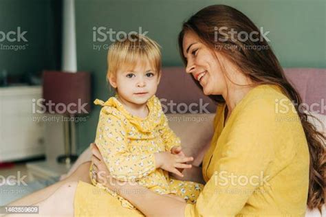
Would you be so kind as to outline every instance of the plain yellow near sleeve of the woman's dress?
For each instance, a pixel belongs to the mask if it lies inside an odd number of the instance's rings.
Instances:
[[[277,138],[274,104],[257,100],[230,123],[214,174],[185,216],[235,216],[259,187],[270,185],[266,168],[272,162]],[[215,154],[214,154],[215,155]]]

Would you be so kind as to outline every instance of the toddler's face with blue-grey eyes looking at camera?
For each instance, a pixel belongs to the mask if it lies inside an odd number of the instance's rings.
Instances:
[[[120,98],[133,104],[146,104],[156,93],[160,76],[147,61],[144,65],[135,65],[132,70],[118,70],[109,82],[118,90]]]

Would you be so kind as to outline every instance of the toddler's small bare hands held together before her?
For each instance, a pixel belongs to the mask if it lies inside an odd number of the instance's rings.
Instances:
[[[170,152],[158,152],[154,155],[156,168],[162,168],[181,177],[184,175],[177,168],[191,168],[191,164],[186,164],[186,162],[193,161],[193,157],[173,155]]]

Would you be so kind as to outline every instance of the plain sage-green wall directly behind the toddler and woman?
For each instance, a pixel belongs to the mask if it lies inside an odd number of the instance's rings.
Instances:
[[[115,31],[143,31],[162,46],[163,65],[182,65],[177,52],[177,34],[182,21],[201,8],[226,4],[270,31],[276,56],[283,67],[326,67],[325,1],[203,1],[203,0],[76,0],[76,36],[79,71],[93,74],[93,99],[111,96],[105,81],[107,50],[94,50],[93,27]],[[94,140],[100,107],[94,107],[87,122],[77,125],[78,152]]]

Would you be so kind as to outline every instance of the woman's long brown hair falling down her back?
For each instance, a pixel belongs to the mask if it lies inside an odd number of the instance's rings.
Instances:
[[[257,32],[255,38],[259,38],[259,40],[237,40],[238,34],[233,34],[232,37],[230,32],[219,34],[217,30],[222,30],[222,27],[224,27],[224,30],[233,29],[237,33],[246,32],[250,34],[250,32]],[[186,32],[195,33],[208,47],[215,51],[218,49],[219,54],[223,54],[228,58],[232,64],[237,66],[243,73],[246,73],[255,84],[276,84],[292,101],[301,119],[309,146],[307,207],[309,209],[317,207],[321,211],[321,207],[325,203],[326,155],[324,141],[326,137],[308,122],[307,117],[312,115],[309,115],[308,111],[299,109],[298,106],[302,102],[300,95],[285,78],[279,60],[277,60],[265,38],[261,37],[261,32],[257,26],[239,10],[227,5],[210,5],[200,10],[182,25],[182,31],[179,34],[179,49],[185,65],[186,58],[183,55],[182,43]],[[246,46],[251,46],[253,49],[246,49]],[[241,49],[226,49],[226,47],[241,47]],[[201,87],[197,80],[194,79],[194,81]],[[210,98],[215,102],[225,102],[221,95],[210,95]]]

